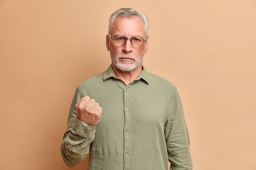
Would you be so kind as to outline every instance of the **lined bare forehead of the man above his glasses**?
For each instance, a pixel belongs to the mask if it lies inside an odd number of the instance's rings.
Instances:
[[[112,34],[123,34],[126,36],[146,35],[145,24],[138,16],[119,16],[112,25]]]

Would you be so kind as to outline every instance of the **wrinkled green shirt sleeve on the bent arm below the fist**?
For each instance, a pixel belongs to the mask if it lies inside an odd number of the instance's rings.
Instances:
[[[78,87],[70,106],[67,131],[61,143],[61,155],[69,167],[74,167],[85,159],[96,132],[96,126],[88,126],[76,116],[75,105],[81,98],[81,91]]]

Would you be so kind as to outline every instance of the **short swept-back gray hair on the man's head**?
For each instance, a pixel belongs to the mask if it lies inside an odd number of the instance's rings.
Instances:
[[[132,18],[132,16],[138,16],[139,18],[141,18],[141,20],[145,24],[146,36],[148,36],[148,29],[149,29],[148,17],[144,13],[138,13],[136,9],[132,9],[132,8],[120,8],[110,15],[109,24],[108,24],[109,33],[111,33],[112,25],[118,16],[122,16],[125,18]]]

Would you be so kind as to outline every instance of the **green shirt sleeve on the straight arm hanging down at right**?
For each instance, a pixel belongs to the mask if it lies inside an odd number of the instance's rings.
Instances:
[[[182,102],[177,89],[172,93],[165,126],[166,147],[170,170],[192,170],[187,130]]]

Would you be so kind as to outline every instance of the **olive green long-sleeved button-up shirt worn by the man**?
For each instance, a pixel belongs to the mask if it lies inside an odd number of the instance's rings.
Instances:
[[[82,97],[95,99],[102,117],[94,127],[76,116]],[[112,66],[78,85],[61,144],[65,163],[89,156],[88,170],[191,170],[189,134],[174,84],[143,67],[126,85]]]

